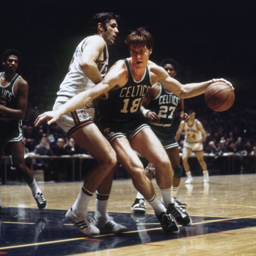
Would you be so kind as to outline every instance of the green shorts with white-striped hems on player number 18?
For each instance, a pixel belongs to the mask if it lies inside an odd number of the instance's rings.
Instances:
[[[144,116],[130,121],[116,121],[100,118],[95,121],[102,134],[112,142],[117,137],[126,137],[131,140],[142,129],[150,126]]]

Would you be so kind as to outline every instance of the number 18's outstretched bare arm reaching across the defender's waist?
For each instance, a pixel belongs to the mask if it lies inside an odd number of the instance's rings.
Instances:
[[[88,104],[92,100],[100,97],[102,95],[106,95],[107,92],[116,87],[122,87],[126,84],[128,79],[127,70],[125,65],[120,61],[114,64],[111,69],[109,69],[108,73],[102,80],[102,82],[98,83],[94,87],[80,92],[69,101],[67,101],[62,107],[56,109],[54,111],[47,111],[43,114],[40,114],[34,124],[38,126],[46,119],[50,119],[47,124],[55,123],[60,116],[63,116],[66,113],[72,112],[76,109],[82,108],[84,105]]]

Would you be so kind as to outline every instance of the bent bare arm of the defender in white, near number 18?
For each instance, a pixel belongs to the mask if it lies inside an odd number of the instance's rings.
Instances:
[[[96,61],[103,60],[103,50],[107,46],[104,39],[100,36],[91,36],[85,40],[82,46],[82,56],[79,65],[88,78],[95,84],[102,81],[102,77],[97,68]]]

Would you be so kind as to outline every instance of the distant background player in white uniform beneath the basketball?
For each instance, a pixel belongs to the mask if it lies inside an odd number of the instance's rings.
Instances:
[[[195,111],[190,110],[189,116],[190,118],[187,121],[187,123],[185,123],[184,121],[180,122],[180,126],[175,136],[176,140],[178,141],[180,139],[181,132],[183,130],[185,131],[185,139],[182,150],[183,167],[187,175],[187,180],[185,181],[185,183],[189,184],[193,181],[190,166],[188,164],[188,158],[192,151],[196,153],[199,164],[203,169],[204,182],[207,183],[209,182],[209,173],[207,170],[206,162],[204,161],[203,146],[203,143],[207,138],[207,134],[206,131],[204,130],[202,123],[199,120],[195,119]]]

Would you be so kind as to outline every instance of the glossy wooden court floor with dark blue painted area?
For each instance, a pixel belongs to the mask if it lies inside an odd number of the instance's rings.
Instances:
[[[191,185],[184,182],[185,177],[177,197],[187,204],[193,224],[179,226],[180,234],[165,234],[149,204],[145,215],[130,211],[136,190],[126,179],[114,180],[108,208],[128,232],[93,237],[65,218],[82,181],[39,183],[48,204],[44,211],[37,209],[27,185],[2,185],[0,255],[256,255],[256,174],[214,175],[209,184],[199,176]],[[94,209],[95,196],[89,211]]]

